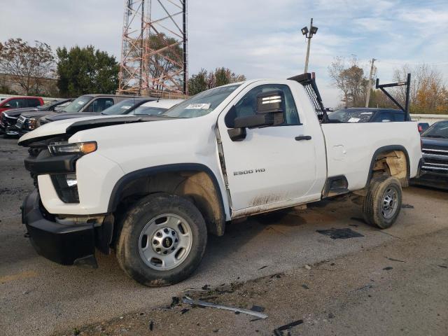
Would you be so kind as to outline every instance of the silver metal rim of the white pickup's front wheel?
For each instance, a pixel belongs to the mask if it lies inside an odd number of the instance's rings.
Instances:
[[[167,271],[181,265],[190,253],[193,232],[179,215],[162,214],[144,226],[139,237],[139,253],[148,267]]]

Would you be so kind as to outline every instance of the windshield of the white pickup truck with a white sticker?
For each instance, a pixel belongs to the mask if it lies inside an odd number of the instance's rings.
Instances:
[[[221,104],[239,85],[221,86],[198,93],[185,102],[173,106],[163,113],[162,116],[177,118],[197,118],[205,116],[216,109],[216,106]]]

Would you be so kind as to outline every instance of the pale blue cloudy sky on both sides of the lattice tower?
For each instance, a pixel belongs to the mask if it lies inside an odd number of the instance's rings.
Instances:
[[[155,0],[153,0],[156,2]],[[0,41],[23,38],[57,48],[94,45],[120,60],[123,0],[0,0]],[[325,106],[339,104],[328,76],[337,56],[356,55],[381,83],[403,64],[430,64],[448,79],[448,1],[188,0],[189,73],[225,66],[248,79],[302,73],[310,18],[309,71]]]

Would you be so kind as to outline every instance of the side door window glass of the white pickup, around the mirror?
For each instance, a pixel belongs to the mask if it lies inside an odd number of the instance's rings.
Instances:
[[[235,105],[235,109],[232,109],[228,115],[225,116],[225,124],[228,127],[232,127],[235,118],[255,115],[257,111],[258,94],[274,90],[281,90],[285,97],[283,106],[285,110],[283,113],[284,123],[280,126],[300,125],[299,115],[297,113],[297,107],[295,106],[293,94],[291,93],[288,85],[283,84],[266,84],[254,87],[252,90],[247,92],[243,98],[241,98],[241,100]]]

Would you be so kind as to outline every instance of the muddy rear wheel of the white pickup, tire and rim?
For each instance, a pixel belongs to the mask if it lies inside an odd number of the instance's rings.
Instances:
[[[401,209],[401,184],[395,177],[379,176],[372,180],[363,202],[364,219],[380,229],[390,228]]]

